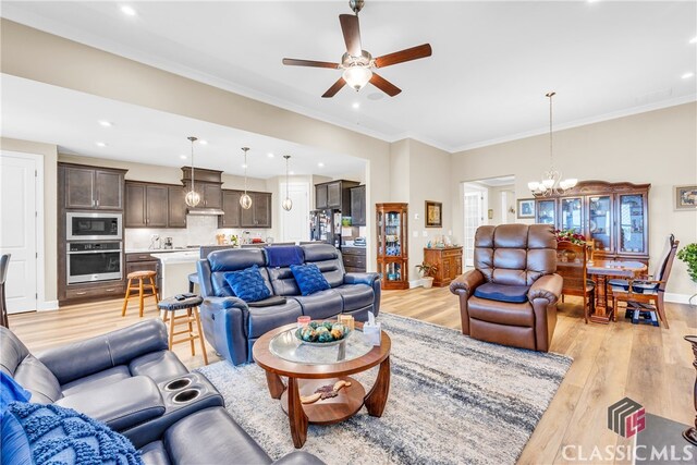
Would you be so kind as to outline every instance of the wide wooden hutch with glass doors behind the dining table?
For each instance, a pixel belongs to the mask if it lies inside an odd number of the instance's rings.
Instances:
[[[538,197],[536,221],[595,241],[597,259],[649,260],[650,184],[584,181],[564,195]]]

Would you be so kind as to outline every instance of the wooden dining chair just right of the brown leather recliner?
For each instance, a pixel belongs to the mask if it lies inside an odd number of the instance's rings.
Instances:
[[[560,242],[557,244],[557,273],[564,279],[564,295],[576,295],[584,298],[584,321],[588,322],[596,307],[596,283],[588,279],[588,245]]]

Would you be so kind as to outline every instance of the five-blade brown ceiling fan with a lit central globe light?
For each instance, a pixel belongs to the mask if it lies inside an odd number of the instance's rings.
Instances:
[[[296,60],[284,58],[283,64],[292,66],[329,68],[343,70],[342,76],[323,95],[323,98],[333,97],[346,84],[356,91],[370,83],[390,97],[394,97],[402,91],[394,84],[375,73],[372,69],[391,66],[392,64],[404,63],[405,61],[418,60],[431,56],[431,46],[424,44],[394,53],[383,54],[372,58],[363,50],[360,45],[360,28],[358,26],[358,12],[365,4],[364,0],[350,0],[348,5],[355,14],[340,14],[339,22],[346,42],[346,52],[341,58],[341,63],[330,63],[327,61]]]

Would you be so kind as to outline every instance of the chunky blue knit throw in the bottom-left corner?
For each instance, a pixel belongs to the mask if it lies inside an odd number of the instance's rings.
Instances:
[[[7,454],[7,455],[5,455]],[[71,408],[14,402],[2,416],[4,464],[142,464],[123,436]]]

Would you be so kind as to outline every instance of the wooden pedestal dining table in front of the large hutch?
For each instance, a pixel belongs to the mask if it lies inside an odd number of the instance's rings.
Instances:
[[[632,260],[589,260],[586,262],[586,273],[596,283],[596,308],[590,314],[590,321],[609,323],[616,320],[614,314],[617,309],[612,308],[612,290],[608,290],[608,282],[614,278],[636,279],[646,274],[648,267],[641,261]]]

